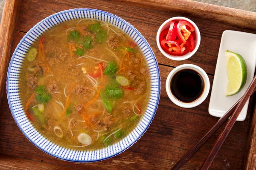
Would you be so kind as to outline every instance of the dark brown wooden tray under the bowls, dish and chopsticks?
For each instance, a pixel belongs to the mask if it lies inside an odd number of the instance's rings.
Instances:
[[[207,72],[212,85],[222,32],[236,30],[256,34],[256,13],[189,0],[22,0],[19,8],[15,0],[6,0],[6,4],[0,31],[0,89],[4,89],[0,104],[0,169],[170,169],[218,118],[208,113],[210,95],[195,108],[174,105],[165,90],[167,75],[177,65],[191,63]],[[70,8],[95,8],[128,21],[148,40],[160,68],[160,103],[147,132],[124,153],[96,163],[62,161],[39,150],[20,132],[6,97],[6,68],[18,42],[45,17]],[[185,61],[172,61],[164,57],[155,40],[159,26],[175,16],[188,17],[201,31],[198,51]],[[14,22],[16,18],[17,22]],[[236,122],[213,161],[211,170],[255,170],[255,102],[256,98],[251,97],[246,120]],[[184,170],[198,170],[201,167],[222,129],[195,154],[183,167]]]

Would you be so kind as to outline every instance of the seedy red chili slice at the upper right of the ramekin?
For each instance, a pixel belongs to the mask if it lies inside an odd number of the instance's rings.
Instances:
[[[184,43],[189,38],[192,31],[195,30],[195,27],[186,20],[180,20],[177,25],[177,35]]]

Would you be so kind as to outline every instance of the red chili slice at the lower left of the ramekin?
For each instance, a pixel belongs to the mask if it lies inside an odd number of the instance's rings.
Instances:
[[[171,55],[178,55],[181,51],[180,45],[175,41],[162,40],[161,47],[166,51],[166,53]]]

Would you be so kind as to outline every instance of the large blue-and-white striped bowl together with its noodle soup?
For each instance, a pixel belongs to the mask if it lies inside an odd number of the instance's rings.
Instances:
[[[131,147],[157,110],[160,73],[145,38],[105,11],[70,9],[35,25],[7,75],[15,122],[56,158],[93,162]]]

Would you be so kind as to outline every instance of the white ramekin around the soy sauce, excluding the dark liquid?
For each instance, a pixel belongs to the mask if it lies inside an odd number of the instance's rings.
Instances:
[[[184,69],[195,70],[204,79],[204,91],[203,91],[202,95],[194,102],[189,102],[189,103],[181,102],[180,100],[176,99],[176,97],[172,94],[172,91],[171,91],[170,83],[171,83],[172,77],[175,75],[175,73],[177,73],[180,70],[184,70]],[[193,65],[193,64],[179,65],[170,72],[170,74],[168,75],[168,77],[166,79],[166,92],[167,92],[169,98],[172,100],[172,102],[174,102],[175,105],[178,105],[182,108],[193,108],[195,106],[200,105],[202,102],[204,102],[204,100],[208,96],[209,90],[210,90],[209,77],[207,76],[206,72],[202,68],[198,67],[197,65]]]

